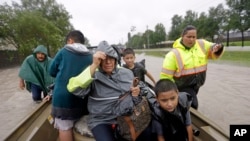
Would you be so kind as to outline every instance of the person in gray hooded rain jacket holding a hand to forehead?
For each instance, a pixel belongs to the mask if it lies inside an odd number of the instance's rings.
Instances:
[[[69,80],[67,88],[74,95],[88,97],[88,126],[96,141],[113,141],[112,125],[116,124],[116,114],[112,112],[120,95],[131,91],[134,97],[140,93],[139,87],[133,87],[134,75],[119,67],[116,50],[106,41],[102,41],[93,55],[93,63],[78,76]]]

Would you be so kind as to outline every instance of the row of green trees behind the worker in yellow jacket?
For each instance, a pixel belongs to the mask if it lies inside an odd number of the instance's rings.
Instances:
[[[227,9],[222,4],[210,7],[208,13],[197,13],[186,11],[184,16],[174,15],[171,19],[172,26],[166,34],[165,27],[159,23],[155,26],[155,31],[147,29],[144,33],[137,33],[130,36],[128,33],[127,46],[134,48],[159,47],[161,42],[175,40],[180,37],[182,29],[191,24],[197,27],[198,37],[216,42],[223,39],[229,45],[229,32],[240,31],[242,46],[244,46],[244,32],[250,29],[250,1],[249,0],[226,0]],[[133,31],[133,30],[131,30]],[[163,43],[167,44],[168,43]]]

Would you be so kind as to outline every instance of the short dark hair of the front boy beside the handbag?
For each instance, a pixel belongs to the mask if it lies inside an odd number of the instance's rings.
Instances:
[[[158,94],[161,92],[168,92],[172,90],[178,92],[176,84],[169,79],[161,79],[157,81],[154,87],[154,92],[156,96],[158,96]]]

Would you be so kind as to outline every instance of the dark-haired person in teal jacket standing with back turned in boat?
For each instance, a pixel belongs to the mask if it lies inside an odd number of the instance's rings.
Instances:
[[[52,98],[54,127],[59,130],[60,141],[73,141],[74,122],[88,114],[87,98],[81,99],[67,90],[71,77],[78,75],[92,63],[92,53],[84,45],[84,35],[73,30],[66,36],[66,45],[57,52],[49,73],[55,77]]]

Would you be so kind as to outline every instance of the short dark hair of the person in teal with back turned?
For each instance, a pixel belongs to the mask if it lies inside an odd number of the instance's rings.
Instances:
[[[81,44],[84,44],[84,43],[85,43],[84,35],[83,35],[82,32],[79,31],[79,30],[70,31],[70,32],[68,33],[68,35],[66,36],[66,42],[67,42],[69,39],[74,40],[75,43],[81,43]]]

